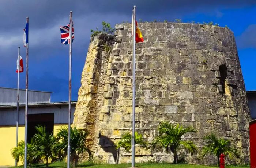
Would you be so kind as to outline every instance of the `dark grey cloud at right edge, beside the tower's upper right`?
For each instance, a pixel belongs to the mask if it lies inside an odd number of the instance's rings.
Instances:
[[[256,24],[249,25],[246,30],[237,37],[238,48],[256,48]]]

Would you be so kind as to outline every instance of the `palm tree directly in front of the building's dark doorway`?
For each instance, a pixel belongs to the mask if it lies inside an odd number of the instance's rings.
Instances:
[[[46,160],[46,167],[48,167],[49,158],[53,158],[53,145],[55,138],[52,133],[45,130],[45,126],[36,126],[36,133],[31,140],[31,143],[37,149],[37,156],[41,156],[42,160]]]

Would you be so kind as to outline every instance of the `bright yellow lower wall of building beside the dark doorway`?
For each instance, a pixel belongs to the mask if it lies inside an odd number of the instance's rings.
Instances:
[[[53,126],[53,133],[56,135],[57,130],[61,125],[67,124],[55,124]],[[19,126],[18,141],[24,141],[25,127]],[[11,149],[16,146],[16,125],[0,126],[0,166],[14,166],[15,159],[11,155]],[[19,161],[18,165],[22,165],[22,161]]]

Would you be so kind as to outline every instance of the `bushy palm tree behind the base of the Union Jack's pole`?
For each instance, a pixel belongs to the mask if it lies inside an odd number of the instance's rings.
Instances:
[[[86,152],[89,156],[89,160],[93,159],[92,151],[86,147],[85,141],[88,135],[87,131],[77,129],[76,127],[70,129],[70,152],[71,161],[73,165],[76,165],[79,159],[79,154]],[[67,155],[68,150],[68,127],[62,126],[56,135],[57,141],[54,145],[56,153],[64,153]]]

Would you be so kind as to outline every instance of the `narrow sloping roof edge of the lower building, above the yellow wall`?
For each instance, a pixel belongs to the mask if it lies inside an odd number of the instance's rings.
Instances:
[[[76,105],[77,101],[71,101],[71,105]],[[68,105],[68,101],[53,102],[53,103],[37,103],[28,104],[28,107],[48,107],[48,106]],[[16,108],[17,105],[0,105],[0,109]],[[25,107],[25,104],[19,105],[20,108]]]

